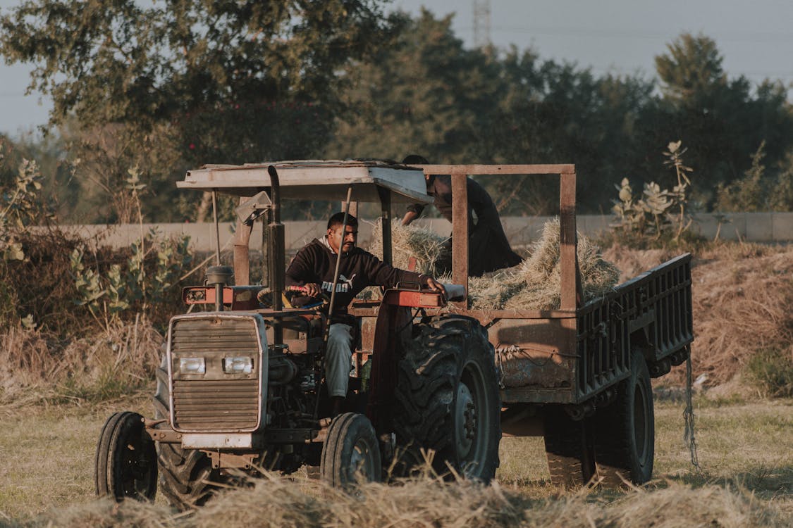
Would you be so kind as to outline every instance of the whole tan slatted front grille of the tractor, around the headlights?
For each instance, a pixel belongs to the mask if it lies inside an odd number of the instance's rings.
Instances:
[[[174,428],[179,431],[251,431],[259,424],[258,329],[252,317],[174,317],[170,353],[177,368],[179,357],[203,357],[201,379],[174,375]],[[255,358],[255,373],[248,377],[224,374],[224,357]]]

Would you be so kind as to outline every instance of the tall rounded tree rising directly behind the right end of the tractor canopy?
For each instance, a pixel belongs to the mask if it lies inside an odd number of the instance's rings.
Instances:
[[[436,163],[476,161],[471,150],[502,97],[496,59],[465,50],[452,16],[423,9],[401,15],[400,32],[370,60],[352,64],[350,112],[339,116],[329,157],[389,158],[421,154]]]

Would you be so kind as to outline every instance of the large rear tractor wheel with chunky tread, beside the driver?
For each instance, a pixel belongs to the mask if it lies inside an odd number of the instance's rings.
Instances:
[[[500,398],[493,348],[470,317],[442,316],[416,325],[399,363],[394,429],[410,473],[435,451],[433,468],[488,482],[499,465]],[[401,468],[399,462],[402,462]]]

